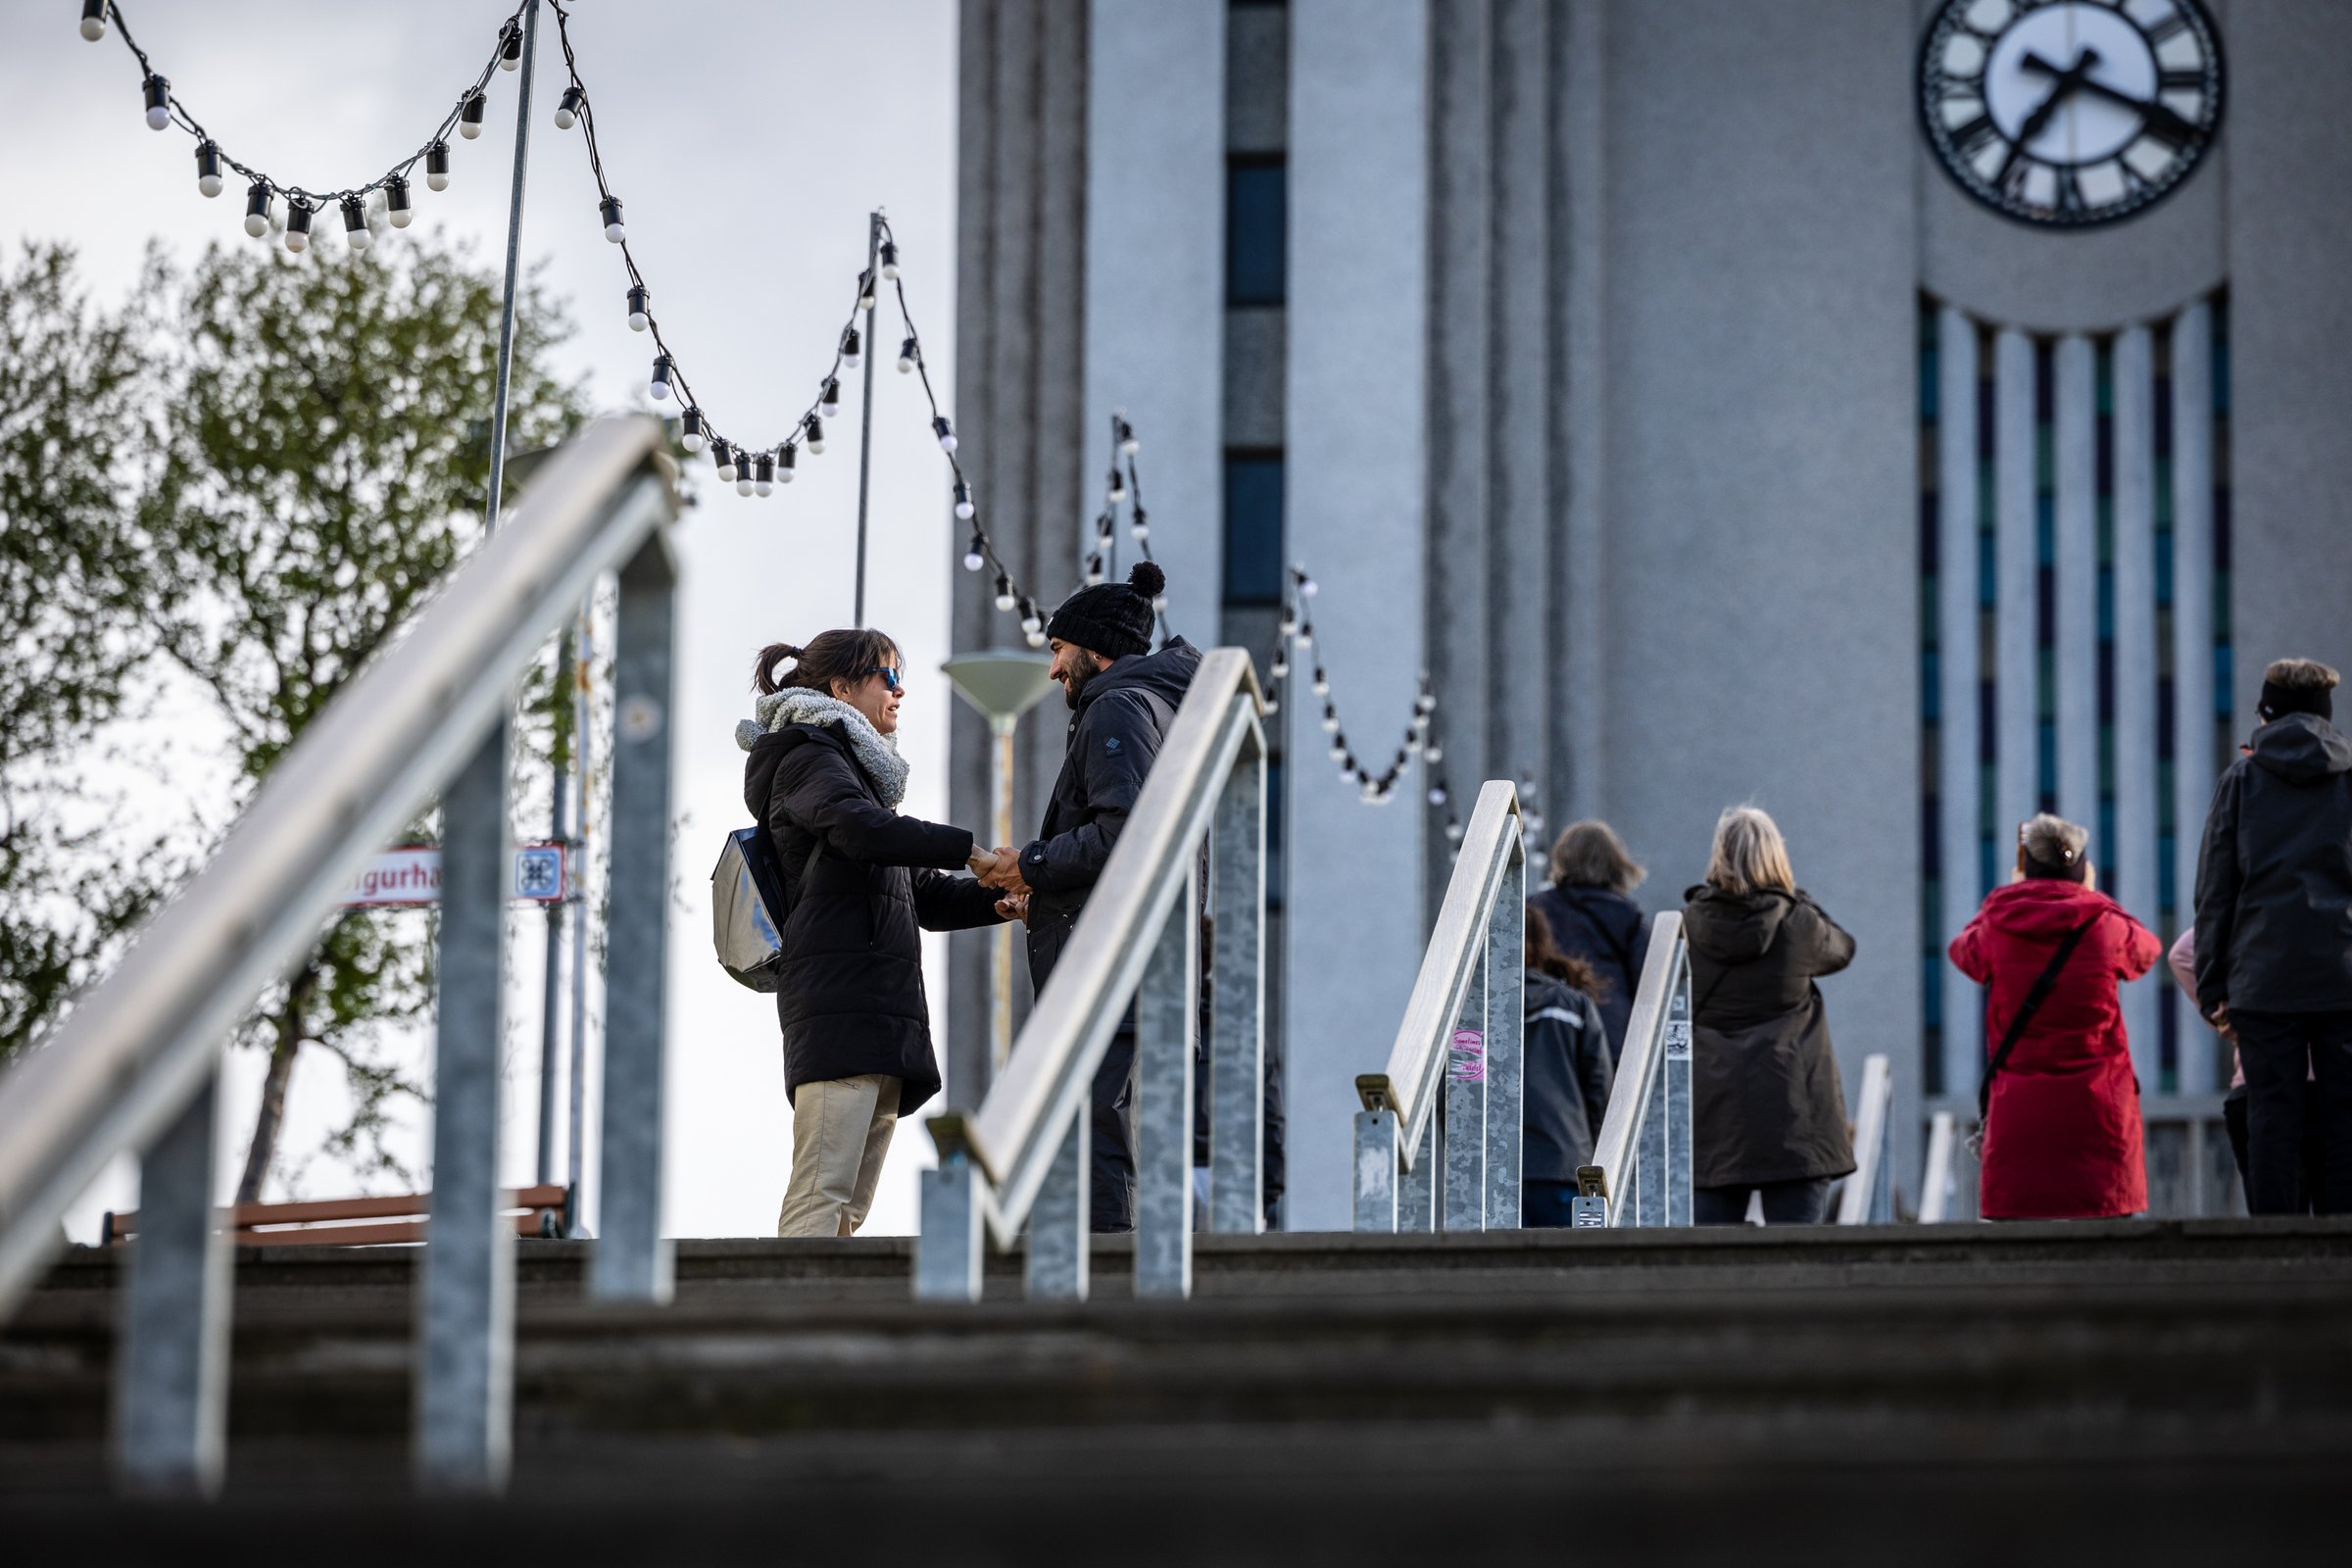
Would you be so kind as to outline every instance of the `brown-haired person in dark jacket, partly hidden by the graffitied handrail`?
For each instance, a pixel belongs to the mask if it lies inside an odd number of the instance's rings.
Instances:
[[[1569,1227],[1576,1213],[1576,1168],[1592,1164],[1592,1140],[1609,1114],[1616,1063],[1602,1011],[1599,980],[1583,959],[1552,945],[1550,922],[1526,903],[1526,1009],[1519,1037],[1524,1112],[1519,1133],[1519,1225]]]

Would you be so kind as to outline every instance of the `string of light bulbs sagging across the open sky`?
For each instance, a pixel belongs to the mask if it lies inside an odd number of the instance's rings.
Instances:
[[[588,96],[588,85],[581,80],[579,56],[572,49],[572,14],[564,5],[560,5],[560,0],[548,0],[548,9],[555,14],[555,33],[562,45],[564,75],[569,82],[555,106],[555,129],[579,129],[588,146],[588,167],[597,183],[597,216],[602,221],[604,237],[621,249],[621,266],[628,273],[628,324],[630,329],[647,331],[654,339],[656,353],[647,378],[647,393],[656,402],[670,402],[675,397],[680,407],[680,444],[687,451],[703,451],[708,447],[720,482],[734,484],[739,496],[767,496],[776,484],[790,484],[800,468],[800,451],[807,449],[809,456],[816,456],[826,449],[826,421],[840,414],[842,371],[858,371],[868,362],[868,346],[858,334],[858,315],[873,313],[875,289],[880,284],[889,284],[898,301],[898,320],[906,327],[906,341],[898,350],[898,371],[920,374],[924,404],[931,416],[931,435],[948,456],[953,475],[955,517],[957,522],[971,524],[971,543],[964,550],[964,567],[969,571],[995,571],[997,609],[1018,611],[1021,630],[1030,646],[1042,646],[1044,611],[1037,609],[1037,599],[1021,585],[1011,567],[997,552],[985,527],[981,527],[978,508],[971,498],[971,482],[957,458],[955,425],[941,411],[938,393],[931,386],[931,374],[924,364],[922,336],[915,331],[915,320],[908,308],[906,282],[898,273],[898,242],[889,230],[889,221],[877,214],[882,223],[877,252],[880,261],[873,270],[858,273],[856,299],[851,303],[849,320],[835,336],[833,362],[818,381],[816,397],[793,421],[790,435],[764,447],[729,440],[703,411],[677,353],[661,334],[661,320],[654,313],[654,294],[647,287],[644,273],[637,268],[635,252],[628,242],[621,197],[612,193],[612,183],[604,176],[604,155],[595,134],[595,106]],[[522,68],[522,7],[517,5],[515,12],[499,26],[499,42],[482,63],[480,75],[459,94],[456,106],[442,118],[423,146],[362,186],[310,190],[292,181],[280,181],[254,165],[230,158],[188,110],[179,94],[172,92],[169,80],[155,71],[148,52],[132,35],[132,28],[122,16],[122,7],[115,0],[82,0],[82,38],[89,42],[103,40],[108,24],[122,35],[122,45],[139,61],[148,127],[162,132],[176,125],[195,136],[198,190],[214,197],[226,188],[228,172],[242,176],[247,181],[245,233],[261,237],[278,230],[285,235],[289,252],[308,249],[310,219],[327,207],[341,209],[343,233],[350,249],[367,249],[372,235],[383,223],[407,228],[414,221],[409,176],[416,165],[421,162],[426,169],[428,190],[447,190],[449,132],[456,129],[459,139],[466,141],[480,136],[489,110],[492,78],[499,71]],[[285,197],[282,219],[278,216],[278,197]],[[873,374],[873,369],[868,367],[866,374]]]

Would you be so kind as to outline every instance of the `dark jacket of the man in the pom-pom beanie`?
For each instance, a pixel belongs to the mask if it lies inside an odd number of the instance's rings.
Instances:
[[[1080,689],[1044,830],[1021,851],[1037,990],[1070,943],[1197,670],[1200,649],[1171,637],[1157,654],[1129,654]]]

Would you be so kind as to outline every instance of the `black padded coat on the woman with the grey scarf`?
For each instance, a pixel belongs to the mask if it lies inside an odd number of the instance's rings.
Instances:
[[[917,926],[997,924],[990,889],[936,870],[962,865],[971,835],[884,806],[830,724],[753,741],[743,804],[767,827],[790,903],[776,987],[786,1093],[882,1072],[901,1079],[898,1114],[913,1112],[938,1093]]]

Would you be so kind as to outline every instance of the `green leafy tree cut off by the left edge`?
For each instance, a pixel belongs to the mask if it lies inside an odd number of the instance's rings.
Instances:
[[[155,280],[151,261],[141,301]],[[143,308],[92,308],[71,249],[0,266],[0,1060],[174,879],[169,846],[101,844],[106,795],[82,769],[155,651],[134,505],[151,376]]]

